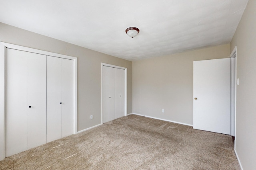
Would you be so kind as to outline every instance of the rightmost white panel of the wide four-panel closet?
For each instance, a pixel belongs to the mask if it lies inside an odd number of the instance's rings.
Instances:
[[[74,133],[74,61],[62,59],[62,137]]]

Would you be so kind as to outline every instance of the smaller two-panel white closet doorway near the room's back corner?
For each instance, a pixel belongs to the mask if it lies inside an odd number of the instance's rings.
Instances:
[[[102,65],[102,122],[126,115],[126,68]]]

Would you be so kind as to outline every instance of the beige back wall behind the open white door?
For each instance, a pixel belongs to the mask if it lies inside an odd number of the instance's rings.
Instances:
[[[132,62],[132,112],[193,125],[193,61],[229,55],[226,44]]]

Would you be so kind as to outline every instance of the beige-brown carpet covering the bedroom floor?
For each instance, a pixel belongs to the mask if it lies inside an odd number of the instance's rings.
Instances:
[[[129,115],[15,154],[2,170],[238,170],[229,135]]]

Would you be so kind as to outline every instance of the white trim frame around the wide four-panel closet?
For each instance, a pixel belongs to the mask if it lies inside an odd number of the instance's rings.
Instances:
[[[77,133],[77,57],[32,49],[20,45],[0,42],[0,160],[5,158],[5,89],[6,89],[6,48],[60,57],[74,61],[74,134]]]

